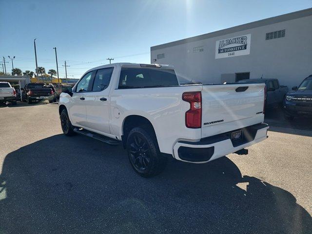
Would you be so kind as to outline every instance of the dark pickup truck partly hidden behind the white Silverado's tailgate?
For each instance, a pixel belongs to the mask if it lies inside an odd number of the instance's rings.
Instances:
[[[280,85],[278,79],[259,78],[259,79],[242,79],[241,83],[265,83],[266,85],[266,108],[276,108],[282,106],[288,87]]]

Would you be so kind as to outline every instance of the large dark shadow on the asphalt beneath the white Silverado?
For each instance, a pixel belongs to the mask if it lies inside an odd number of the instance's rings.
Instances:
[[[5,157],[0,233],[310,233],[295,197],[227,157],[138,176],[121,146],[56,135]]]

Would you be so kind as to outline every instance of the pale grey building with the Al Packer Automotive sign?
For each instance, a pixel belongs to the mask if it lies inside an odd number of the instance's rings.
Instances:
[[[153,46],[151,63],[203,83],[263,76],[297,86],[312,74],[312,8]]]

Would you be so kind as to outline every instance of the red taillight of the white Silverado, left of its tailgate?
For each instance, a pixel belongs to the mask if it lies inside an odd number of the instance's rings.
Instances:
[[[201,128],[201,92],[186,92],[182,100],[190,103],[190,110],[185,113],[185,126]]]

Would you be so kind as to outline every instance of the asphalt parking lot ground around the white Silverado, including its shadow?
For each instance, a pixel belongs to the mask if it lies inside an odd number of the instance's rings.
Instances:
[[[62,135],[57,104],[0,107],[0,234],[312,232],[312,121],[267,112],[269,138],[138,176],[121,146]]]

